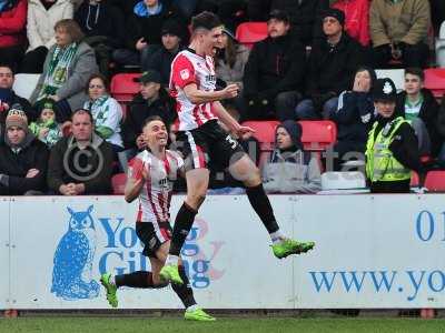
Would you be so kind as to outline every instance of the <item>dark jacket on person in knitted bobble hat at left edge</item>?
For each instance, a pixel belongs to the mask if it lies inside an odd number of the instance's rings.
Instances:
[[[27,143],[17,153],[6,143],[0,145],[0,173],[8,178],[8,184],[3,181],[0,184],[1,195],[22,195],[30,190],[46,191],[49,158],[47,145],[30,133],[24,140]],[[30,169],[39,170],[39,173],[26,178]]]

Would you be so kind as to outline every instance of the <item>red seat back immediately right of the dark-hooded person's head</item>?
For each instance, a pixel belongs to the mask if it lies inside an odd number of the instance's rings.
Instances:
[[[330,120],[300,120],[305,150],[323,151],[337,141],[337,125]]]

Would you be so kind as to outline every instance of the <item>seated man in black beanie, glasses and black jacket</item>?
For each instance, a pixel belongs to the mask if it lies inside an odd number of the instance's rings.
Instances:
[[[297,119],[328,118],[337,110],[338,95],[347,90],[354,73],[365,61],[363,47],[343,31],[345,14],[338,9],[323,13],[326,38],[314,42],[307,75],[307,99],[299,102]]]

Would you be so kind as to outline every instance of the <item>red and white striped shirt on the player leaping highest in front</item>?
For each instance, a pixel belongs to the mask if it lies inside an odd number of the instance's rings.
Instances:
[[[202,104],[190,102],[184,92],[184,88],[190,83],[196,83],[198,90],[214,91],[216,74],[211,57],[204,58],[187,49],[175,57],[170,73],[170,95],[176,99],[179,131],[190,131],[211,119],[217,119],[212,102]]]

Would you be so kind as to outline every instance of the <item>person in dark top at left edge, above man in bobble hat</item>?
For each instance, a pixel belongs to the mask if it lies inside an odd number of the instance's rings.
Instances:
[[[0,37],[1,38],[1,37]],[[31,103],[16,94],[12,90],[14,82],[14,73],[10,64],[0,63],[0,124],[4,124],[9,109],[14,104],[19,104],[21,110],[27,114],[28,120],[32,121],[37,118],[36,111]]]

